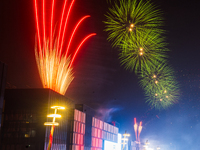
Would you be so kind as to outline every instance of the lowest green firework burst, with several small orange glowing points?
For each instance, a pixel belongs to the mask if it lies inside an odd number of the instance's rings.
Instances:
[[[178,101],[179,85],[174,71],[166,64],[159,64],[140,76],[140,85],[145,91],[146,102],[156,109],[168,108]]]

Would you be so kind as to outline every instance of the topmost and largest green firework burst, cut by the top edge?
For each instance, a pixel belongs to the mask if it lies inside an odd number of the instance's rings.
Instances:
[[[145,34],[146,30],[162,33],[162,13],[150,1],[120,0],[106,14],[105,31],[112,46],[118,46],[132,36]]]

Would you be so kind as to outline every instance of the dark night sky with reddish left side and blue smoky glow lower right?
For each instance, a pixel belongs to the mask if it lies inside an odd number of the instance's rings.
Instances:
[[[61,0],[59,0],[62,2]],[[99,110],[106,121],[120,124],[132,134],[133,118],[143,121],[142,141],[161,149],[200,149],[200,1],[152,0],[162,11],[170,49],[169,62],[181,87],[179,102],[167,110],[145,103],[137,76],[120,66],[117,48],[107,42],[104,14],[106,0],[76,0],[71,15],[83,15],[80,36],[95,32],[74,63],[75,79],[66,96]],[[36,66],[33,0],[0,0],[0,61],[8,65],[7,88],[42,88]],[[106,112],[106,113],[102,113]],[[153,147],[153,146],[152,146]]]

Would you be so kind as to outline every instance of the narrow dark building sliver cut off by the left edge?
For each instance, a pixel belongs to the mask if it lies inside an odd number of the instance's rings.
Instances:
[[[1,129],[1,118],[4,100],[4,90],[6,85],[6,70],[7,66],[0,62],[0,129]]]

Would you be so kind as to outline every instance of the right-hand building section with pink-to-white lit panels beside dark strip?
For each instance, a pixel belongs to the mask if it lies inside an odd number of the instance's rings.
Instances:
[[[116,126],[94,117],[94,110],[86,105],[76,104],[75,108],[86,114],[84,150],[103,150],[104,141],[117,143],[119,129]]]

